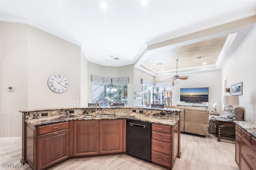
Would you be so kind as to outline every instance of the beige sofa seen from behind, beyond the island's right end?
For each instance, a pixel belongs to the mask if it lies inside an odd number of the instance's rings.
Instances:
[[[182,109],[180,113],[180,131],[206,136],[209,122],[209,111],[203,107],[164,106],[165,108]]]

